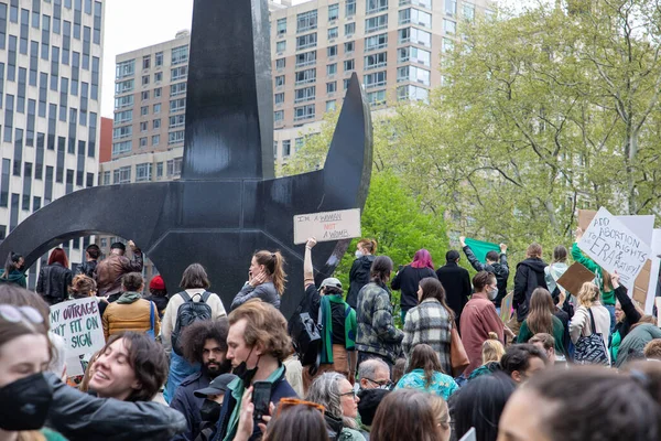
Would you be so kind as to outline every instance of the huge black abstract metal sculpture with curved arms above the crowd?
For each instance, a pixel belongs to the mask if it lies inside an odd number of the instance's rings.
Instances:
[[[195,0],[180,181],[68,194],[21,223],[0,256],[17,250],[32,266],[58,244],[110,234],[133,239],[170,292],[189,263],[203,263],[229,306],[251,255],[280,249],[289,273],[281,309],[290,316],[303,295],[304,247],[293,245],[293,216],[365,205],[371,121],[354,74],[324,169],[274,179],[268,14],[267,0]],[[334,271],[347,246],[315,248],[317,279]]]

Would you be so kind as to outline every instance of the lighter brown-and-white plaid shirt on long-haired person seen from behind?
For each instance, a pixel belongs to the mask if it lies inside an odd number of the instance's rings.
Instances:
[[[452,374],[449,342],[452,319],[436,299],[426,299],[407,313],[402,347],[407,357],[419,344],[429,344],[436,351],[443,372]]]

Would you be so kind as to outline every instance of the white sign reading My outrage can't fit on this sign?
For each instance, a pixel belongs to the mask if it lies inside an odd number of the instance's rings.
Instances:
[[[71,300],[51,306],[51,331],[66,342],[67,374],[83,374],[80,356],[95,353],[106,344],[97,298]]]

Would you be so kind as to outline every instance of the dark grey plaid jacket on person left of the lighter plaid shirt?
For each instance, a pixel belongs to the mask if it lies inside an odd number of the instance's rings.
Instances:
[[[356,349],[382,355],[394,363],[404,335],[394,327],[388,291],[376,283],[362,287],[358,293],[356,319],[358,321]]]

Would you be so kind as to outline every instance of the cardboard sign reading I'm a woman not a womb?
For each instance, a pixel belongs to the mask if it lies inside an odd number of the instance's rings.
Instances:
[[[337,212],[299,214],[294,216],[294,244],[360,237],[360,208]]]

